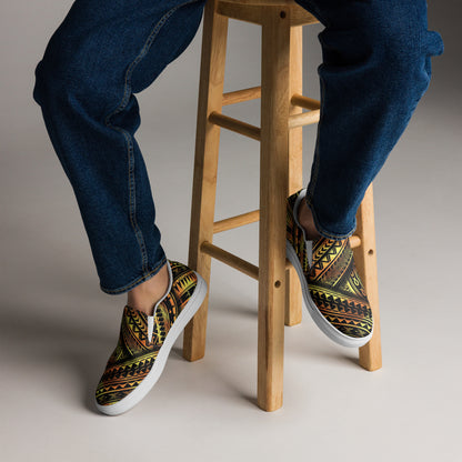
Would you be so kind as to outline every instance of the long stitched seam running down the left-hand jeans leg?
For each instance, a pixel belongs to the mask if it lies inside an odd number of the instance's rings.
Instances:
[[[134,181],[134,155],[133,155],[133,137],[121,127],[113,125],[111,123],[111,118],[119,112],[123,111],[123,109],[127,108],[127,104],[130,101],[130,96],[132,94],[131,91],[131,77],[133,74],[134,68],[141,62],[141,60],[148,54],[148,51],[150,50],[152,43],[154,42],[157,36],[159,34],[159,31],[163,27],[163,24],[167,22],[167,20],[181,7],[193,3],[197,0],[190,0],[182,4],[178,4],[173,8],[171,8],[169,11],[167,11],[161,19],[154,24],[153,29],[151,30],[150,34],[148,36],[148,39],[144,41],[144,44],[141,49],[141,51],[138,53],[135,59],[129,64],[127,72],[125,72],[125,79],[124,79],[124,87],[123,87],[123,96],[122,100],[120,101],[119,106],[110,112],[104,118],[104,124],[106,127],[116,130],[125,139],[127,142],[127,149],[128,149],[128,177],[129,177],[129,215],[130,215],[130,223],[134,231],[134,235],[138,241],[138,245],[140,247],[141,252],[141,263],[142,263],[142,271],[148,271],[149,265],[149,259],[148,259],[148,252],[145,248],[145,241],[143,233],[138,225],[137,222],[137,202],[135,202],[135,181]]]

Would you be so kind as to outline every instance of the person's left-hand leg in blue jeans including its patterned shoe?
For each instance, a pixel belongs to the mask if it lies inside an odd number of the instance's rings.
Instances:
[[[167,260],[134,133],[133,93],[191,42],[205,0],[77,0],[37,68],[40,103],[76,192],[107,293],[128,292],[119,341],[96,406],[120,414],[155,384],[171,346],[202,304],[207,283]]]

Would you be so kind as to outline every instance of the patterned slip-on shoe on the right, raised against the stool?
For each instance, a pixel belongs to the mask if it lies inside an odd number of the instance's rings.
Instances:
[[[358,274],[349,239],[310,241],[298,221],[307,190],[287,201],[287,257],[300,278],[303,302],[317,325],[343,346],[371,340],[372,311]]]

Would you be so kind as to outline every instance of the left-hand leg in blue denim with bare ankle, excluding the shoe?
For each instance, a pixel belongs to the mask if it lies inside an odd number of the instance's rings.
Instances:
[[[204,2],[77,0],[36,70],[33,96],[74,190],[100,287],[130,291],[140,309],[155,290],[163,294],[168,274],[133,138],[140,124],[133,93],[188,47]]]

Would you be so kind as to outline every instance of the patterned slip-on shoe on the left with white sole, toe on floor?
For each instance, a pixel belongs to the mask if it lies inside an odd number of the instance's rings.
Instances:
[[[168,261],[169,289],[153,315],[125,305],[119,342],[97,386],[99,411],[118,415],[140,402],[159,380],[174,341],[207,294],[205,281],[184,264]]]

